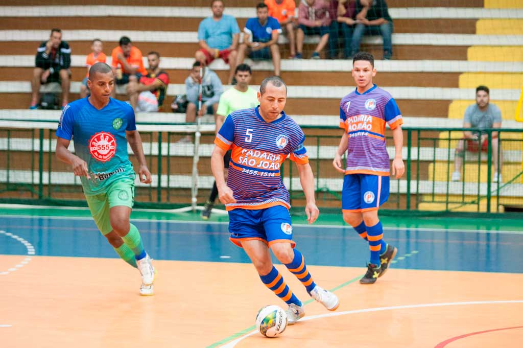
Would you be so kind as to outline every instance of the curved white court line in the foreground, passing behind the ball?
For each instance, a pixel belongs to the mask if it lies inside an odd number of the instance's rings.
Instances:
[[[316,316],[310,316],[305,317],[301,319],[301,321],[306,320],[314,320],[314,319],[320,319],[320,318],[328,318],[328,317],[337,317],[337,316],[344,316],[348,314],[357,314],[357,313],[368,313],[368,312],[378,312],[383,310],[395,310],[395,309],[410,309],[410,308],[426,308],[426,307],[445,307],[445,306],[468,306],[468,305],[493,305],[493,304],[523,304],[523,300],[501,300],[501,301],[468,301],[468,302],[444,302],[440,304],[419,304],[419,305],[405,305],[405,306],[391,306],[391,307],[378,307],[378,308],[365,308],[365,309],[356,309],[356,310],[348,310],[344,312],[333,312],[333,313],[325,313],[320,314]],[[232,348],[234,347],[238,342],[243,341],[248,336],[252,336],[256,334],[258,331],[254,330],[251,331],[244,336],[226,343],[222,345],[222,348]]]

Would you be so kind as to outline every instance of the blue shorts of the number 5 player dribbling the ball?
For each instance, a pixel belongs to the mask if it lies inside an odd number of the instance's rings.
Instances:
[[[229,240],[242,247],[242,241],[260,240],[268,246],[279,242],[291,243],[292,224],[289,210],[283,206],[265,209],[240,209],[229,211]]]

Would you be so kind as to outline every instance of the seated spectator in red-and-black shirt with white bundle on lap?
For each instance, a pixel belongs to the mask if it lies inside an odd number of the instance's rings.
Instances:
[[[160,53],[147,53],[149,69],[138,82],[129,81],[127,94],[129,102],[137,113],[155,113],[163,105],[169,85],[169,75],[160,69]]]

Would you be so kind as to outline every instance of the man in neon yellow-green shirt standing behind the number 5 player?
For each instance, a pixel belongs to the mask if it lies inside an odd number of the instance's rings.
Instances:
[[[236,85],[234,85],[234,88],[228,89],[228,91],[225,91],[220,97],[220,103],[218,104],[218,110],[216,111],[217,134],[225,121],[225,117],[233,111],[253,108],[259,104],[258,92],[249,87],[249,82],[251,82],[252,77],[251,67],[247,64],[236,66],[234,77],[236,78]],[[227,151],[225,156],[223,156],[225,169],[229,168],[230,159],[231,150]],[[202,219],[207,220],[211,216],[212,207],[214,206],[216,197],[218,197],[218,188],[216,187],[216,182],[214,182],[209,199],[205,203],[205,207],[201,213]]]

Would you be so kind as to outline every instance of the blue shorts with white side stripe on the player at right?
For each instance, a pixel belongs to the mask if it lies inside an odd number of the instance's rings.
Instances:
[[[343,179],[342,210],[350,212],[378,210],[389,199],[389,177],[347,174]]]

